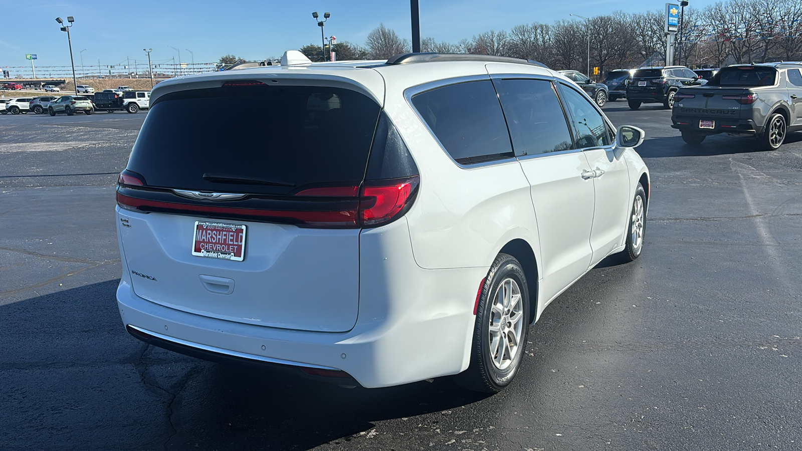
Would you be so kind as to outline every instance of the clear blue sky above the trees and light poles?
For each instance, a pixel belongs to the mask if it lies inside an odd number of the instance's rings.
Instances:
[[[703,8],[714,0],[691,0]],[[487,30],[508,30],[520,23],[550,23],[569,14],[593,16],[615,10],[658,10],[665,2],[623,0],[419,0],[421,37],[456,42]],[[677,2],[678,3],[678,2]],[[402,38],[411,38],[410,2],[305,1],[228,2],[195,0],[29,0],[10,9],[0,21],[0,67],[30,67],[26,53],[38,55],[37,66],[67,66],[67,35],[55,18],[75,17],[71,29],[75,65],[80,51],[86,65],[124,63],[127,58],[147,61],[143,47],[152,48],[155,62],[172,57],[184,63],[217,61],[233,53],[245,59],[280,57],[289,49],[320,43],[320,29],[312,11],[331,13],[326,36],[363,44],[367,34],[384,23]],[[24,6],[22,6],[24,5]],[[6,10],[8,10],[6,6]],[[5,15],[5,14],[2,14]],[[192,51],[192,54],[189,52]]]

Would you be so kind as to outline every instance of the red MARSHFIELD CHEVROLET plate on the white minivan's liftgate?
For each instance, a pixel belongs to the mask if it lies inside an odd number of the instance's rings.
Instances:
[[[245,225],[195,221],[192,255],[241,262],[245,258]]]

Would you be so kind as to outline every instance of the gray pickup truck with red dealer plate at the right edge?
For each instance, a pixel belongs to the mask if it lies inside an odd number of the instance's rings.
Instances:
[[[788,133],[802,130],[802,63],[723,67],[706,85],[677,91],[671,121],[688,144],[728,133],[779,148]]]

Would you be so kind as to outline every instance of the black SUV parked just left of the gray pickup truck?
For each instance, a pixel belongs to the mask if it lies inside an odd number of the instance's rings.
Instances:
[[[707,81],[684,66],[641,67],[634,71],[626,87],[626,100],[633,110],[641,108],[641,104],[662,104],[670,109],[680,87],[704,83]]]

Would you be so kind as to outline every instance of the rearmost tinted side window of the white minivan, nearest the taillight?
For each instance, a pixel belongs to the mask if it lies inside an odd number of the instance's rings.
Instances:
[[[421,92],[412,104],[457,163],[511,157],[512,145],[490,80]]]

